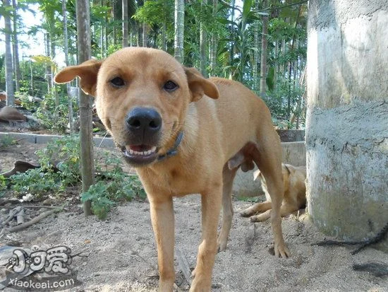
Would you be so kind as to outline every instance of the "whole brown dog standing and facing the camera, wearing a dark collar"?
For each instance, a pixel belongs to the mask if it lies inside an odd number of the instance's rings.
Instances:
[[[75,76],[86,93],[97,97],[99,117],[147,192],[159,291],[172,291],[175,278],[172,198],[196,193],[202,199],[202,243],[190,291],[210,291],[217,246],[226,248],[233,215],[231,187],[237,168],[230,170],[227,161],[248,141],[260,143],[260,170],[273,204],[275,254],[289,255],[281,233],[279,136],[267,106],[252,91],[235,81],[205,79],[166,52],[149,48],[125,48],[102,62],[69,66],[55,81],[69,82]]]

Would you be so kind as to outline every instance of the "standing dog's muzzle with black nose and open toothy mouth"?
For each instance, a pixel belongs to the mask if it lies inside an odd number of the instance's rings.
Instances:
[[[162,117],[150,107],[135,107],[126,115],[128,142],[124,158],[132,165],[145,165],[157,159]]]

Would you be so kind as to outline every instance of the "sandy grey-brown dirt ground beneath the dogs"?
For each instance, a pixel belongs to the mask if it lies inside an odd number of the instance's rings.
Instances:
[[[22,144],[1,151],[0,173],[8,170],[15,159],[33,160],[36,147]],[[234,201],[236,214],[229,244],[214,264],[213,291],[388,291],[387,276],[352,269],[353,264],[371,261],[388,264],[388,254],[367,247],[351,255],[354,247],[313,245],[325,235],[317,231],[308,216],[284,218],[283,233],[291,257],[275,258],[269,252],[269,222],[250,223],[238,215],[250,204]],[[200,243],[200,197],[175,199],[174,209],[176,248],[194,268]],[[8,211],[0,206],[1,214]],[[72,255],[82,252],[73,258],[70,267],[78,272],[77,279],[83,284],[70,291],[157,291],[157,252],[147,202],[116,206],[106,221],[96,216],[85,218],[81,206],[75,204],[28,229],[1,235],[0,247],[11,243],[28,248],[66,245]],[[176,263],[176,284],[187,291],[180,270]]]

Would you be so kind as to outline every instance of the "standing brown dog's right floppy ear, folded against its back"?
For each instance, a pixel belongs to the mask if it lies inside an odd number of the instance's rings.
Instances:
[[[188,88],[191,91],[191,101],[198,101],[205,94],[210,98],[219,98],[217,86],[204,78],[195,68],[186,68]]]

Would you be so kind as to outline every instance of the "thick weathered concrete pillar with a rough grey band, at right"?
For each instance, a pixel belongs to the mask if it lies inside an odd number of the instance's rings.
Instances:
[[[388,223],[388,1],[311,0],[307,59],[308,212],[363,240]]]

